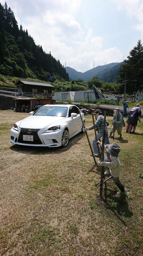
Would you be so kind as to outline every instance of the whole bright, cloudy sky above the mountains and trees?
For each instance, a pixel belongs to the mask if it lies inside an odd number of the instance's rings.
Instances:
[[[0,0],[4,4],[5,0]],[[18,25],[77,71],[121,62],[143,42],[143,0],[7,0]]]

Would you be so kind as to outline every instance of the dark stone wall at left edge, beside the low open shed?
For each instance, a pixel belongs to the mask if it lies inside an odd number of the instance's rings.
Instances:
[[[11,109],[11,107],[15,108],[14,97],[0,95],[0,110]]]

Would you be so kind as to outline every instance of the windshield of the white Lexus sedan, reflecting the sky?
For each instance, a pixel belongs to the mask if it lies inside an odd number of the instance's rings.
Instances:
[[[68,108],[62,106],[43,106],[41,109],[37,110],[35,116],[62,116],[67,115]]]

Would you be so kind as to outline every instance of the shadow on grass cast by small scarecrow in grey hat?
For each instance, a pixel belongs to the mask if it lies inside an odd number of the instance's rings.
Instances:
[[[127,197],[115,196],[116,191],[105,189],[105,207],[107,210],[112,211],[120,221],[126,226],[126,219],[133,215],[133,212],[128,208]]]

